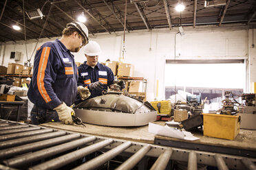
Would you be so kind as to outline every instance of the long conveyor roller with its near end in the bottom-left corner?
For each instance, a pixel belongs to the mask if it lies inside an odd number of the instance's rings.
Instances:
[[[26,165],[30,162],[34,162],[36,160],[42,160],[43,158],[47,158],[50,156],[54,156],[56,154],[62,153],[63,151],[68,151],[70,149],[74,149],[78,146],[84,145],[85,143],[89,143],[95,141],[96,137],[91,136],[87,138],[81,138],[76,141],[72,141],[69,143],[64,143],[58,146],[49,147],[47,149],[42,149],[40,151],[35,151],[31,154],[26,154],[25,156],[20,156],[19,158],[12,158],[9,160],[3,161],[5,165],[10,167],[20,167],[22,165]]]

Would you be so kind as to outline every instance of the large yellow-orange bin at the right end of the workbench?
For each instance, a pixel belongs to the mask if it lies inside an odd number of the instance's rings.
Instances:
[[[207,114],[204,116],[204,136],[234,140],[239,134],[240,116]]]

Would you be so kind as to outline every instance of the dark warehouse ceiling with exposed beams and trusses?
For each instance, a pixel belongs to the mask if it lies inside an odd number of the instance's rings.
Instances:
[[[250,24],[256,21],[255,0],[183,0],[185,10],[175,11],[178,0],[127,0],[127,32],[136,29],[158,29],[180,25],[226,25],[228,23]],[[34,17],[40,9],[43,16]],[[89,34],[123,31],[125,0],[1,0],[0,42],[52,38],[61,36],[65,25],[76,21],[84,12]],[[29,18],[30,16],[30,18]],[[21,26],[19,31],[13,24]]]

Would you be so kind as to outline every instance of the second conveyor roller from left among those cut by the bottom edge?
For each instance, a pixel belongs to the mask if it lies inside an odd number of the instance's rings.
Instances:
[[[131,142],[122,143],[122,145],[119,145],[118,147],[115,147],[114,149],[111,149],[105,154],[97,156],[96,158],[89,160],[88,162],[85,162],[83,165],[76,167],[74,170],[96,169],[97,167],[100,167],[100,165],[103,165],[105,162],[107,162],[107,160],[111,160],[111,158],[114,158],[118,154],[122,153],[122,151],[130,146]]]

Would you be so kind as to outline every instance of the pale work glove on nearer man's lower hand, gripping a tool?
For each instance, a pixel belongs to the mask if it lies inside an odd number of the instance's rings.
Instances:
[[[58,113],[58,119],[63,121],[65,124],[73,124],[71,113],[74,113],[74,110],[68,107],[64,102],[63,104],[59,105],[58,107],[54,108]]]

